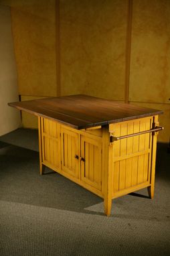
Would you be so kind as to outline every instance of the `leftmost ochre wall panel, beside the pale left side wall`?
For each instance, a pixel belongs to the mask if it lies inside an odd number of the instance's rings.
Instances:
[[[19,94],[56,96],[56,1],[11,1]]]

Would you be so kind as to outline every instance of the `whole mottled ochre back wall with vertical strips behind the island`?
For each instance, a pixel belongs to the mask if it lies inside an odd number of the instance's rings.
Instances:
[[[169,141],[169,0],[7,2],[21,99],[86,93],[163,109]]]

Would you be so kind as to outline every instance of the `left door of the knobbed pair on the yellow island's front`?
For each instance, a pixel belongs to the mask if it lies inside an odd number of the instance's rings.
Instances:
[[[61,129],[62,145],[62,171],[78,178],[79,151],[78,151],[78,133],[62,127]]]

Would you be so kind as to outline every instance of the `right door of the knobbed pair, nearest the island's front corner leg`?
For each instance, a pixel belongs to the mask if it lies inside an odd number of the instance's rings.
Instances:
[[[102,142],[100,139],[81,136],[81,180],[101,190]]]

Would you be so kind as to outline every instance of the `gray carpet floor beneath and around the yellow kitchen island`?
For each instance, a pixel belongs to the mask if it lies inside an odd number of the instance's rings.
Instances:
[[[158,144],[155,198],[140,190],[102,199],[46,168],[37,131],[0,137],[0,255],[170,255],[170,154]]]

